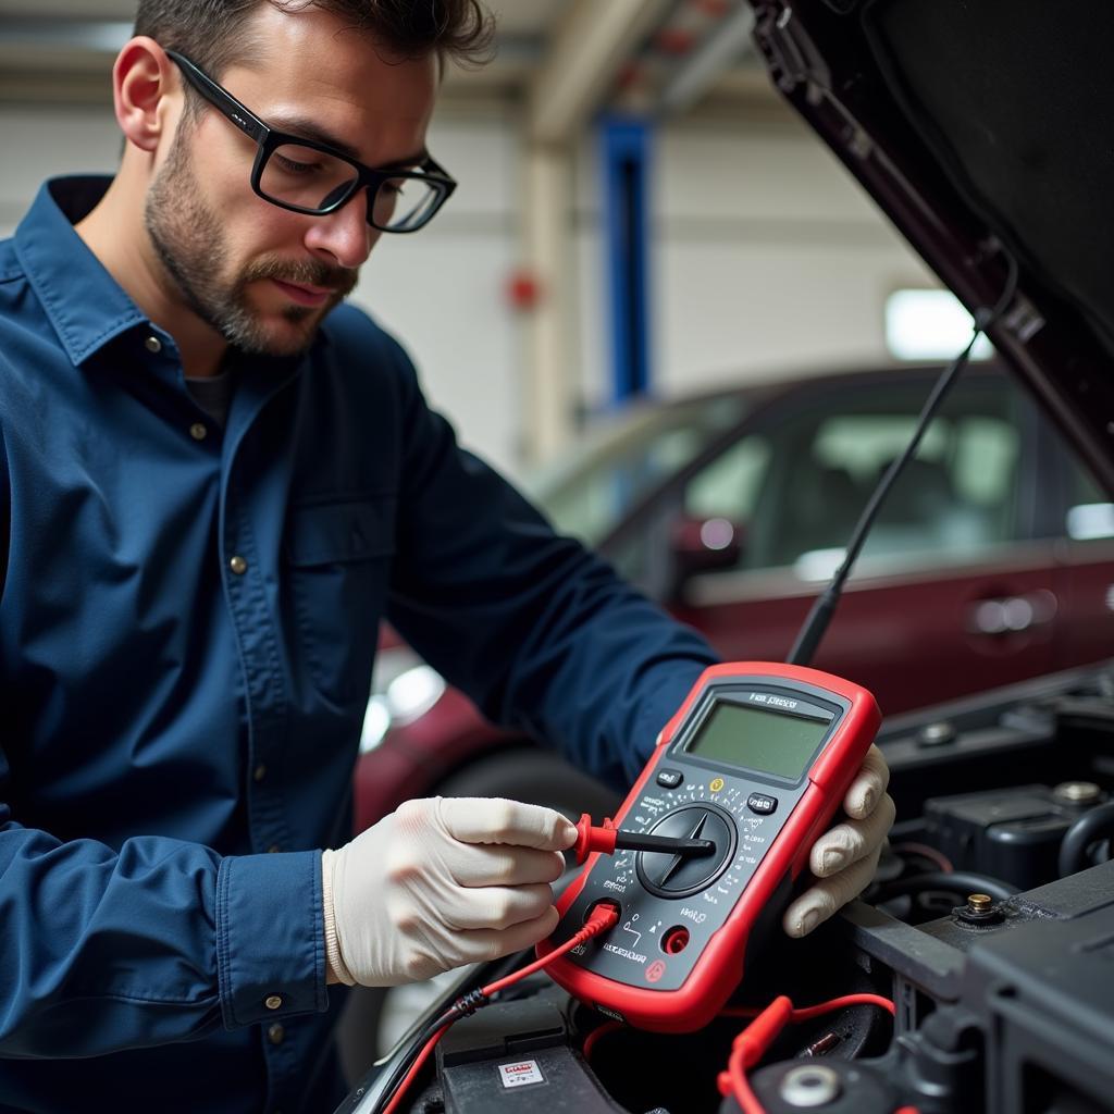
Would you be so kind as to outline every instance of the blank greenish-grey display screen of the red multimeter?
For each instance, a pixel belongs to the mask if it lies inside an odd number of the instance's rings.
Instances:
[[[830,719],[805,720],[719,701],[685,750],[696,758],[795,781],[829,726]]]

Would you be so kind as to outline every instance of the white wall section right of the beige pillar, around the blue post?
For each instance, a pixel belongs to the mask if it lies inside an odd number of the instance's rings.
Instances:
[[[589,408],[610,390],[594,156],[586,144],[577,236]],[[652,157],[652,380],[662,397],[885,361],[886,296],[936,284],[802,125],[671,125]]]

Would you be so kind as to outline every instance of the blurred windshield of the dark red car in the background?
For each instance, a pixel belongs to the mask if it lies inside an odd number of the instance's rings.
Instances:
[[[719,394],[626,411],[528,477],[524,487],[558,530],[596,546],[746,410],[742,394]]]

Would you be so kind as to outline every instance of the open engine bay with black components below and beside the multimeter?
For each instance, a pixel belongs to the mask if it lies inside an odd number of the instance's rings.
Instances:
[[[849,1005],[783,1030],[750,1068],[761,1108],[1111,1110],[1112,730],[1111,665],[883,723],[901,819],[874,883],[805,939],[771,939],[721,1017],[692,1034],[641,1032],[532,975],[446,1033],[400,1108],[730,1114],[742,1107],[717,1079],[743,1027],[732,1007],[866,993],[890,998],[893,1017]],[[413,1039],[339,1112],[379,1110]],[[525,1077],[508,1085],[508,1069]]]

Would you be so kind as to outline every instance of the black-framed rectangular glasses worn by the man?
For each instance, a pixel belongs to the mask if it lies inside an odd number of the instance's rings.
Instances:
[[[361,189],[368,190],[368,223],[381,232],[417,232],[429,224],[457,188],[432,158],[420,167],[374,169],[328,144],[275,131],[216,84],[185,55],[167,57],[186,80],[250,139],[257,150],[252,188],[264,201],[293,213],[335,213]]]

